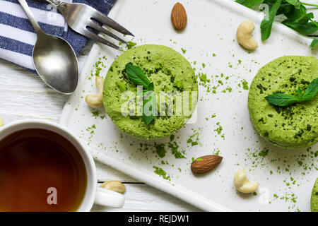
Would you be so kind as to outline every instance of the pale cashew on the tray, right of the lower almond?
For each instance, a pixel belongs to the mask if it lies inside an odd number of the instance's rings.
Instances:
[[[234,186],[237,191],[242,193],[253,193],[259,187],[259,183],[249,182],[246,176],[246,170],[240,169],[234,176]]]

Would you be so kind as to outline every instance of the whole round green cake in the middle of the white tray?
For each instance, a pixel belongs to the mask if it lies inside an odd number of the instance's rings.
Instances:
[[[122,106],[127,102],[122,94],[126,91],[137,94],[136,85],[126,76],[126,64],[139,66],[149,81],[153,82],[154,91],[158,96],[160,92],[198,92],[197,76],[191,64],[174,49],[156,44],[134,47],[114,60],[105,78],[103,102],[114,124],[124,133],[143,139],[168,136],[184,126],[192,117],[197,98],[195,105],[190,101],[191,114],[158,115],[148,126],[140,115],[122,114]],[[189,98],[191,100],[191,95]]]

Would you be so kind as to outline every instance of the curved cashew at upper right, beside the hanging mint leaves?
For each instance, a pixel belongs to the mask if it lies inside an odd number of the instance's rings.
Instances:
[[[254,28],[254,23],[251,20],[243,21],[237,28],[237,41],[242,45],[242,47],[245,47],[245,49],[254,50],[258,47],[257,41],[251,37]]]

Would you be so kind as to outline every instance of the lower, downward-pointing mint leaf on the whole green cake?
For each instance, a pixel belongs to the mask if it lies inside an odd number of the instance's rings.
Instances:
[[[155,112],[157,112],[157,100],[153,91],[147,92],[143,97],[143,121],[146,126],[151,124],[151,121],[155,118]]]

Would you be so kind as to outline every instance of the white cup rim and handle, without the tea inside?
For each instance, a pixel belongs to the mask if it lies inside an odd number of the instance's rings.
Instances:
[[[27,119],[13,122],[0,128],[0,141],[11,133],[20,131],[23,129],[47,129],[58,133],[59,135],[70,141],[78,152],[81,154],[86,166],[87,172],[87,186],[86,194],[83,198],[81,206],[78,208],[78,212],[90,211],[93,204],[96,203],[102,206],[110,206],[114,208],[121,208],[124,206],[124,196],[114,191],[102,189],[98,187],[98,180],[96,177],[96,167],[93,157],[88,152],[88,148],[83,142],[69,129],[59,124],[37,119]]]

